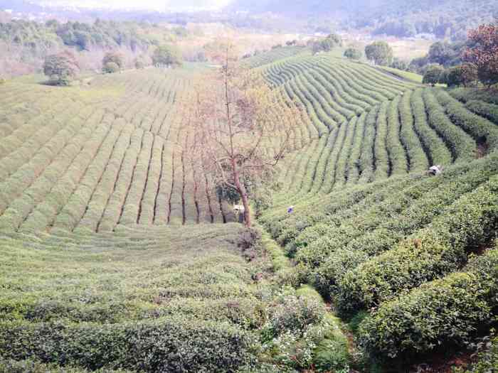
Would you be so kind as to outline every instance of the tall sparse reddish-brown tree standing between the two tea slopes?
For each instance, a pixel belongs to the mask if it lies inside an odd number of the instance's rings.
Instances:
[[[223,45],[222,67],[198,78],[187,107],[196,154],[203,173],[218,188],[242,200],[250,227],[250,185],[262,180],[289,150],[292,128],[300,118],[294,102],[282,105],[257,72],[238,65],[233,44]]]

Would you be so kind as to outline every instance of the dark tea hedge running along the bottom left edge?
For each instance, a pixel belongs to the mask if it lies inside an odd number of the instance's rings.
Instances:
[[[248,333],[220,323],[0,323],[2,357],[143,372],[233,372],[253,362]]]

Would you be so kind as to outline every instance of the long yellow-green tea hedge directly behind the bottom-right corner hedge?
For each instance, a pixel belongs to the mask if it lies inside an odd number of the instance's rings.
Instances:
[[[339,285],[339,310],[369,308],[459,269],[467,254],[497,232],[497,188],[494,177],[457,200],[430,227],[346,274]]]

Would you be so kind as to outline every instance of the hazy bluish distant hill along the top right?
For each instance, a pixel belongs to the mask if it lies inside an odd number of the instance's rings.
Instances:
[[[232,11],[271,12],[307,18],[308,27],[326,20],[343,28],[371,28],[373,33],[409,37],[432,33],[438,38],[462,39],[467,29],[498,16],[494,0],[234,0]],[[312,22],[310,22],[312,20]]]

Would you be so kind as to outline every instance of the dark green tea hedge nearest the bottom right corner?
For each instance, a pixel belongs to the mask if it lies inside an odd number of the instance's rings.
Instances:
[[[494,320],[498,251],[470,261],[465,272],[425,283],[381,304],[361,323],[359,342],[371,355],[391,358],[464,345]]]

